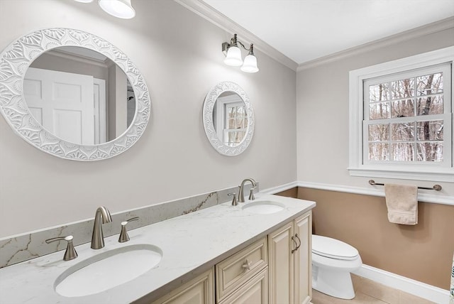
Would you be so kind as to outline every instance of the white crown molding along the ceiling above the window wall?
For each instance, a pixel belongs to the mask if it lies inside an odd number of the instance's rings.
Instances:
[[[341,60],[350,56],[359,55],[361,53],[370,52],[377,48],[383,48],[387,45],[392,45],[395,43],[400,43],[406,40],[419,38],[421,36],[430,35],[432,33],[437,33],[439,31],[444,31],[449,28],[454,28],[454,17],[445,18],[440,21],[433,23],[428,23],[425,26],[419,26],[417,28],[412,28],[409,31],[404,31],[402,33],[397,33],[392,36],[387,36],[385,38],[371,41],[370,43],[365,43],[362,45],[355,46],[353,48],[348,48],[342,50],[341,52],[333,53],[331,55],[323,56],[314,60],[310,60],[306,63],[301,63],[297,67],[297,72],[301,70],[311,69],[312,67],[317,67],[319,65],[324,65],[326,63],[331,63],[336,60]]]

